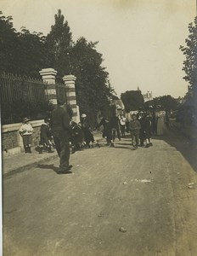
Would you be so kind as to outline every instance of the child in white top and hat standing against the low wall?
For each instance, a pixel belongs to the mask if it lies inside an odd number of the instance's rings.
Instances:
[[[33,132],[33,127],[29,123],[30,119],[25,118],[22,121],[22,125],[20,126],[20,136],[23,138],[23,145],[25,149],[25,153],[30,153],[31,154],[31,135]]]

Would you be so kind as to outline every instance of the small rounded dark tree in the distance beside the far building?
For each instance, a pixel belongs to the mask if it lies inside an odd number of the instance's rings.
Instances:
[[[121,101],[125,105],[126,112],[138,110],[144,106],[144,97],[140,90],[127,90],[121,93]]]

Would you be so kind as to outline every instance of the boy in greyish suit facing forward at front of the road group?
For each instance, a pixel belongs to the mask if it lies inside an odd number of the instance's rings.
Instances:
[[[136,114],[132,114],[132,120],[129,123],[129,129],[132,135],[132,146],[133,146],[132,150],[135,150],[138,148],[140,128],[141,128],[141,125],[137,120]]]

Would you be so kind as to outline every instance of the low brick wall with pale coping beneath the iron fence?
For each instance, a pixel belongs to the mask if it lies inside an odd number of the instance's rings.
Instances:
[[[40,140],[40,127],[43,123],[42,120],[31,121],[31,125],[34,129],[32,134],[32,147],[39,144]],[[20,136],[19,129],[22,123],[3,125],[2,126],[2,150],[3,156],[10,154],[19,154],[24,151],[23,140]]]

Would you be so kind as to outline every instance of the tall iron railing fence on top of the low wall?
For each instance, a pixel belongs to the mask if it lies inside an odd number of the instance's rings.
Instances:
[[[42,119],[50,108],[42,80],[0,73],[2,124],[20,122],[25,116]]]

